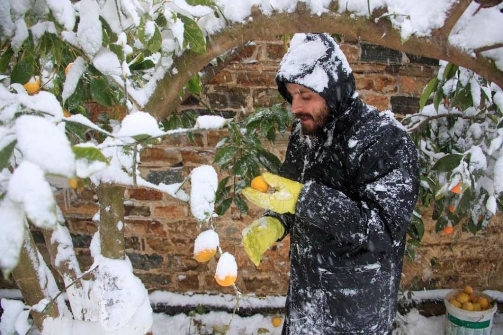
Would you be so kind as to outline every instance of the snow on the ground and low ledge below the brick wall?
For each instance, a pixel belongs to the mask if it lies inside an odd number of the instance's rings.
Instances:
[[[425,300],[441,300],[451,290],[429,290],[414,291],[411,298],[414,302]],[[486,294],[498,299],[503,303],[503,292],[486,290]],[[19,299],[19,290],[0,289],[1,298]],[[153,324],[151,332],[153,335],[177,334],[177,335],[202,335],[223,333],[225,327],[230,322],[228,335],[251,335],[266,333],[270,335],[281,334],[283,326],[282,314],[255,314],[252,316],[232,316],[224,311],[211,311],[204,314],[196,312],[197,306],[213,306],[216,308],[232,309],[235,306],[235,296],[231,294],[197,294],[197,293],[173,293],[166,291],[154,291],[149,294],[152,304],[169,303],[173,306],[192,306],[191,313],[181,313],[177,315],[166,315],[163,313],[153,313]],[[254,295],[244,295],[241,297],[240,308],[282,308],[285,303],[284,296],[256,297]],[[272,319],[275,316],[281,318],[281,324],[275,327]],[[397,314],[396,328],[392,335],[435,335],[442,334],[445,327],[445,315],[426,317],[412,308],[404,315]],[[267,330],[267,331],[266,331]],[[31,335],[38,334],[32,329]],[[493,319],[491,335],[503,335],[503,314],[496,313]]]

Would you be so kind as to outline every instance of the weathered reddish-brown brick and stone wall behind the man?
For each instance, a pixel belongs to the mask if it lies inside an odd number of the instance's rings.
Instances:
[[[406,55],[380,46],[346,41],[341,44],[356,78],[360,96],[380,110],[391,109],[397,118],[415,113],[424,86],[437,73],[438,61]],[[283,41],[256,41],[242,52],[203,88],[206,105],[229,115],[241,117],[255,108],[278,102],[275,73],[284,54]],[[180,110],[206,113],[197,99],[187,99]],[[195,134],[195,142],[185,135],[174,136],[141,153],[141,172],[154,183],[181,182],[201,164],[212,164],[215,145],[225,131]],[[288,133],[278,136],[268,149],[283,159]],[[265,142],[264,142],[265,143]],[[71,191],[73,192],[73,191]],[[192,259],[194,240],[201,232],[187,204],[156,191],[129,189],[125,201],[125,237],[127,255],[135,274],[148,290],[174,292],[233,293],[213,279],[216,258],[206,264]],[[89,245],[97,231],[92,220],[98,211],[92,190],[72,193],[70,205],[60,203],[71,231],[82,270],[92,263]],[[289,239],[274,245],[256,268],[241,245],[241,230],[259,217],[262,209],[250,205],[247,215],[231,206],[214,221],[221,248],[236,257],[237,287],[243,293],[285,295],[289,273]],[[425,209],[426,216],[431,211]],[[435,224],[425,219],[423,247],[416,249],[417,260],[404,262],[403,288],[455,288],[470,284],[479,289],[503,290],[503,221],[494,218],[487,230],[473,236],[461,232],[443,236],[435,233]],[[206,229],[203,227],[203,229]],[[35,241],[46,255],[43,236],[34,232]],[[15,287],[0,282],[0,287]]]

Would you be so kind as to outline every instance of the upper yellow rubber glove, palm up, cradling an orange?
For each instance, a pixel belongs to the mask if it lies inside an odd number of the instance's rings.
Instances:
[[[262,193],[251,187],[246,187],[242,190],[242,194],[246,199],[257,206],[280,214],[286,212],[295,214],[295,205],[304,184],[268,172],[262,174],[262,178],[270,186],[276,188],[277,191],[274,193]]]

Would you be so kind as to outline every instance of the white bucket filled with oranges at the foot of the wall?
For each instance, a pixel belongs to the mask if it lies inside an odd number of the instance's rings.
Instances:
[[[446,312],[446,335],[490,334],[496,301],[482,292],[466,285],[462,290],[449,292],[444,299]]]

